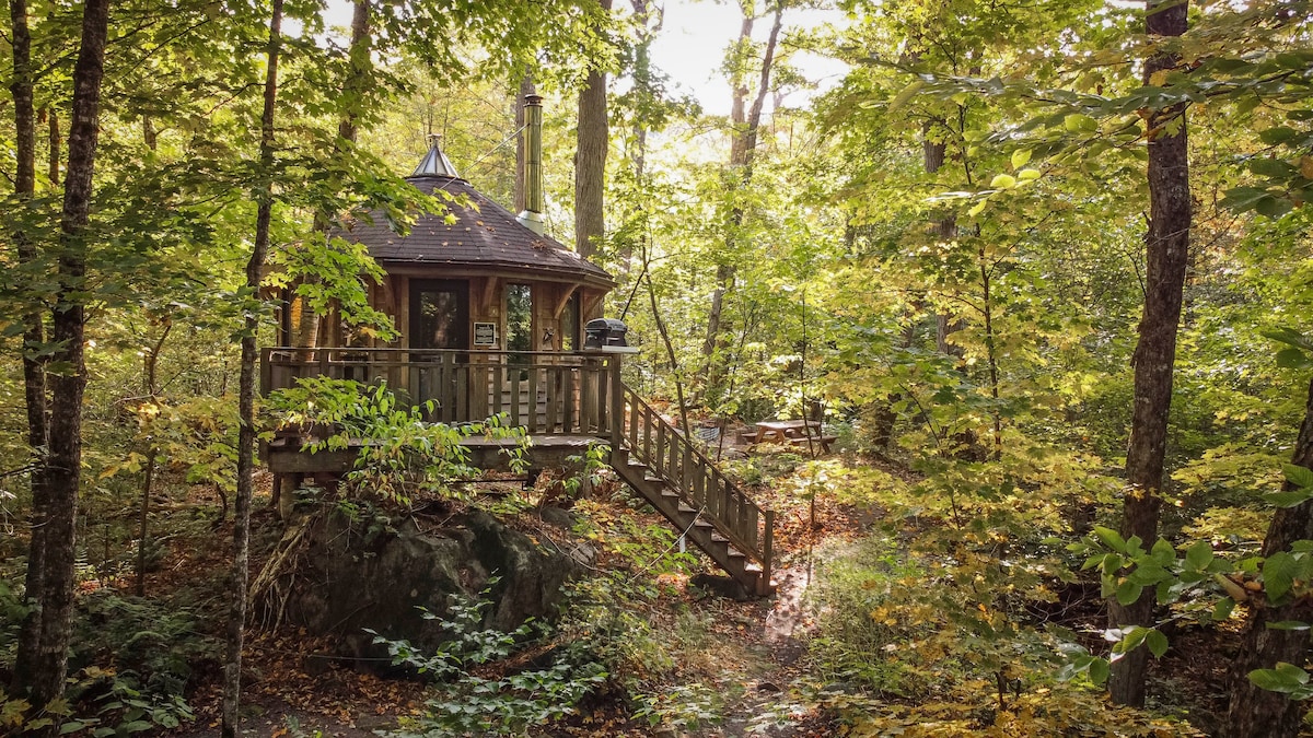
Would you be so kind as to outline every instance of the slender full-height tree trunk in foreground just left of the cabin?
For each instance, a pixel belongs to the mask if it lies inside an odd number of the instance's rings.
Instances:
[[[264,79],[264,109],[260,116],[260,192],[256,210],[255,243],[247,261],[247,299],[257,301],[260,269],[269,248],[273,218],[273,113],[278,101],[278,58],[282,49],[282,0],[273,0],[269,17],[269,46]],[[228,583],[228,653],[223,664],[223,738],[236,738],[238,706],[242,699],[242,645],[246,636],[247,578],[251,554],[251,498],[255,473],[255,365],[259,358],[256,310],[247,311],[242,334],[242,369],[238,380],[238,488],[232,508],[232,575]]]

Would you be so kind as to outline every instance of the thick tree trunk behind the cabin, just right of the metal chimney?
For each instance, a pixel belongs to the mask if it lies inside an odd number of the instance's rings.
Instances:
[[[611,0],[597,0],[611,12]],[[575,251],[584,259],[605,236],[604,185],[611,129],[607,125],[607,75],[593,67],[579,92],[578,148],[575,150]]]

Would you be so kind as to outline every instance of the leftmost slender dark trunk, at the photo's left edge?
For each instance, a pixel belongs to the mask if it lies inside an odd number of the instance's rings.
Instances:
[[[13,95],[14,122],[14,181],[13,189],[22,205],[22,215],[30,215],[32,196],[37,189],[37,122],[33,109],[32,34],[28,28],[26,0],[9,0],[11,47],[13,51]],[[28,265],[37,260],[37,246],[28,236],[28,222],[18,219],[12,234],[18,250],[18,264]],[[45,531],[49,510],[49,485],[46,481],[46,449],[49,446],[50,414],[46,406],[46,369],[37,358],[37,347],[46,343],[41,307],[34,307],[24,316],[22,385],[28,407],[28,446],[32,449],[32,515],[30,544],[28,548],[26,604],[30,608],[24,617],[18,653],[13,668],[13,692],[26,693],[32,684],[32,672],[37,664],[41,646],[41,582],[45,563]]]

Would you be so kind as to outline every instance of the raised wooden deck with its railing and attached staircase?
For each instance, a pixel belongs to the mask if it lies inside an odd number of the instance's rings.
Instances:
[[[590,445],[611,446],[611,466],[672,527],[705,552],[743,588],[773,591],[775,513],[758,506],[683,431],[664,420],[620,378],[620,355],[507,353],[357,348],[267,348],[260,368],[264,393],[297,380],[331,377],[386,382],[408,403],[432,401],[431,422],[475,423],[502,415],[529,436],[529,467],[569,466]],[[305,453],[299,437],[264,449],[276,478],[340,474],[362,443]],[[515,440],[467,439],[470,465],[506,469]]]

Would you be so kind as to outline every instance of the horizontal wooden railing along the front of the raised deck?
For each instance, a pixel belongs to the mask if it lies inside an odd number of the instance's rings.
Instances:
[[[399,348],[265,348],[264,394],[297,380],[387,382],[407,403],[433,401],[440,423],[506,415],[530,435],[609,437],[616,355]]]

